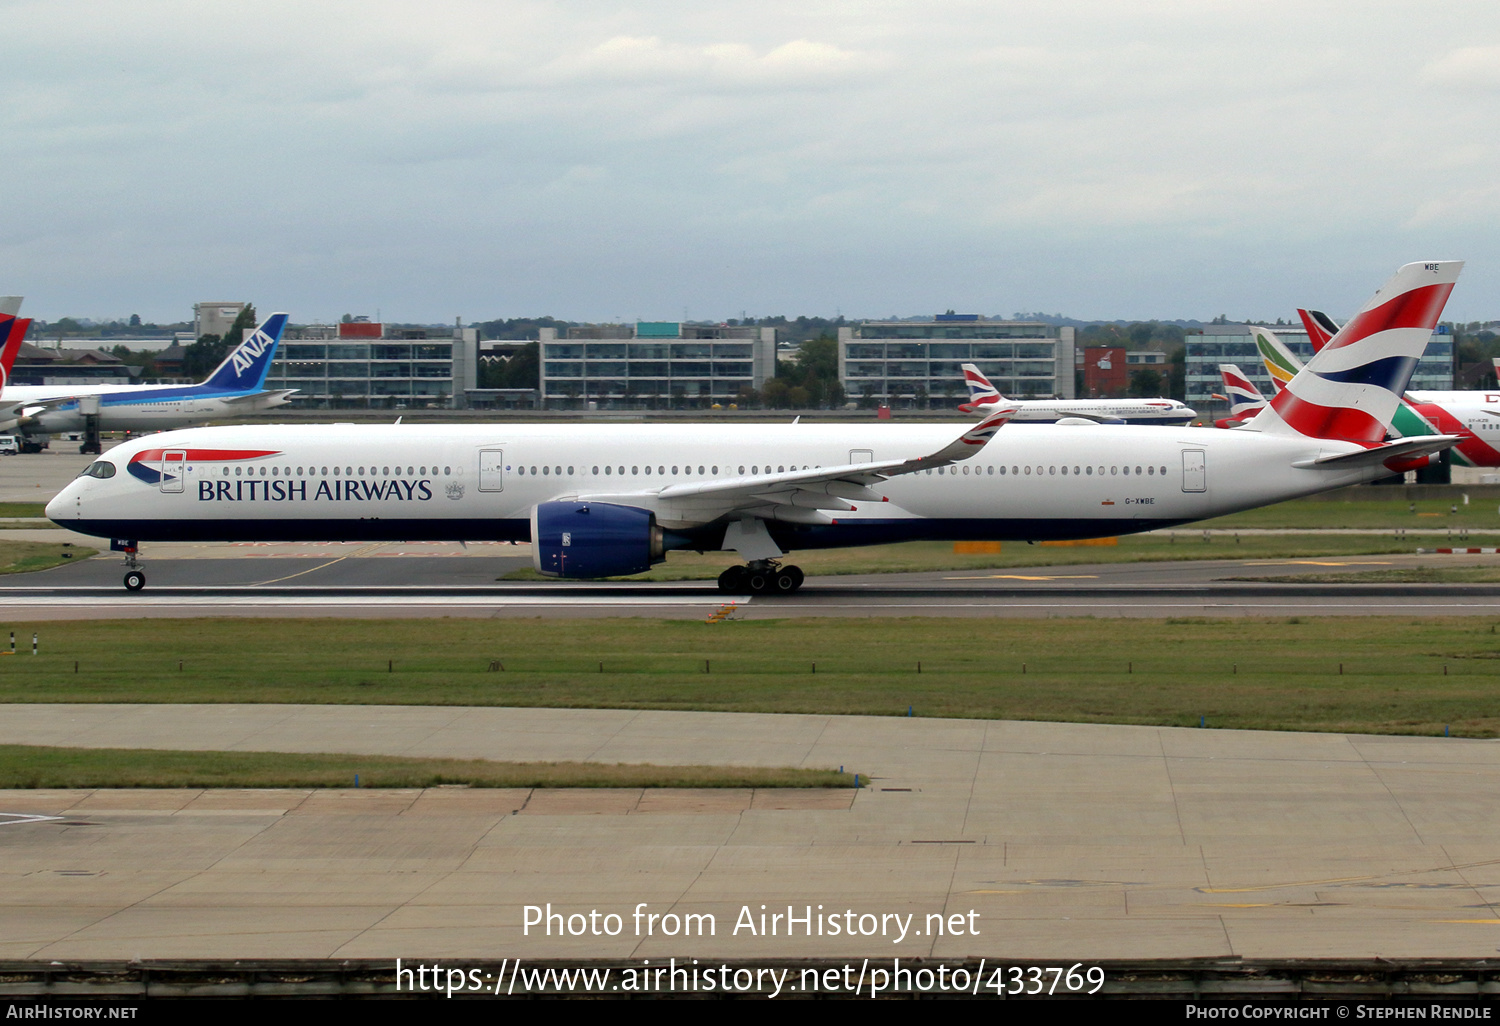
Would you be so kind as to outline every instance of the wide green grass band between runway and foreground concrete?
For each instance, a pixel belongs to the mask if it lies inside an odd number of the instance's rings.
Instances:
[[[1500,624],[1478,616],[196,620],[14,628],[22,651],[0,658],[0,702],[910,710],[1500,736]],[[32,632],[40,636],[34,657],[26,645]]]

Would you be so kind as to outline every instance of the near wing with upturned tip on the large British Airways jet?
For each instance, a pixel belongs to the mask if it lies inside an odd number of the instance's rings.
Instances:
[[[854,501],[884,502],[885,498],[870,490],[870,484],[900,474],[916,474],[969,459],[984,448],[1005,422],[1016,416],[1016,410],[1014,405],[1006,405],[1004,410],[992,412],[938,452],[926,456],[840,466],[808,466],[782,474],[729,477],[692,484],[668,484],[630,494],[579,495],[579,498],[651,506],[663,519],[682,524],[708,524],[730,513],[752,513],[800,524],[828,524],[830,518],[822,510],[846,513],[855,508]]]

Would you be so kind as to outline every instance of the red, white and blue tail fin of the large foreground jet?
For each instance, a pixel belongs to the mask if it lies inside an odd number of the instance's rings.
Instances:
[[[1256,417],[1266,434],[1384,441],[1461,260],[1407,264]]]

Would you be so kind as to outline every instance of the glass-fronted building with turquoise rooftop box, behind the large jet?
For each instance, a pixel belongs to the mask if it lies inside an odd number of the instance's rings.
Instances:
[[[741,402],[776,376],[776,328],[754,326],[588,324],[542,328],[548,410],[705,410]]]

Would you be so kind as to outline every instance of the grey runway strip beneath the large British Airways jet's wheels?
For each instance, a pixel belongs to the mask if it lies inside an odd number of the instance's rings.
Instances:
[[[14,531],[10,534],[27,534]],[[57,532],[48,532],[57,534]],[[14,620],[120,616],[1281,616],[1500,615],[1500,584],[1269,584],[1266,576],[1497,556],[1209,560],[810,578],[794,596],[724,596],[712,582],[502,580],[531,566],[506,543],[160,544],[147,590],[99,555],[0,584]]]

